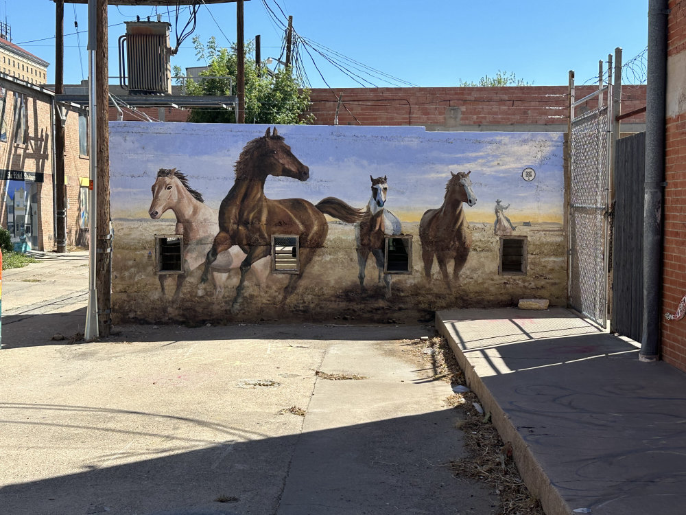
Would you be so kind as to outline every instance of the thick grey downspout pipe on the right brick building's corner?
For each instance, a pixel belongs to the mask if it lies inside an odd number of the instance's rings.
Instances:
[[[668,14],[667,0],[648,2],[646,196],[643,203],[643,335],[639,352],[641,361],[656,361],[660,352]]]

